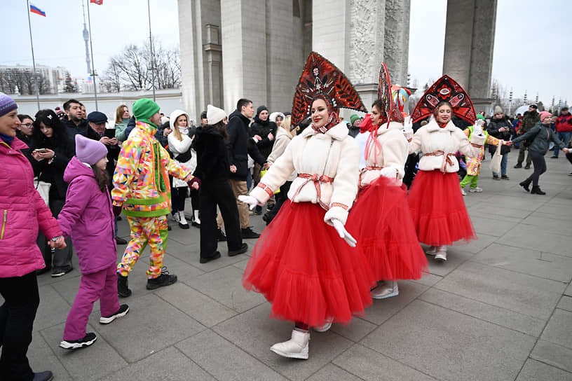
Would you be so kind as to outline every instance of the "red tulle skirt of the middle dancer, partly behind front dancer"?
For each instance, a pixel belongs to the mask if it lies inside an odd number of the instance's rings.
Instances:
[[[420,279],[427,272],[405,189],[380,176],[360,192],[346,223],[376,279]]]

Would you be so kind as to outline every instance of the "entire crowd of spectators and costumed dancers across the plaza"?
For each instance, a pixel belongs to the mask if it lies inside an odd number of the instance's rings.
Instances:
[[[290,340],[271,350],[307,359],[310,328],[348,324],[372,299],[397,296],[400,279],[421,278],[425,254],[447,261],[448,246],[477,238],[463,195],[468,184],[470,192],[483,191],[487,145],[491,158],[500,155],[495,180],[509,180],[513,144],[515,168],[528,151],[524,168],[532,164],[533,173],[519,185],[537,195],[545,194],[538,181],[549,149],[552,158],[562,150],[572,162],[567,108],[552,116],[531,105],[510,120],[496,106],[486,120],[432,92],[451,82],[437,81],[427,93],[439,102],[420,101],[408,116],[393,103],[383,65],[372,112],[349,123],[339,109],[365,112],[365,105],[317,53],[308,58],[292,113],[264,105],[255,111],[243,98],[231,113],[207,105],[198,126],[184,110],[166,117],[147,98],[132,113],[119,105],[110,121],[100,111],[86,113],[76,99],[63,111],[18,114],[0,93],[0,378],[50,380],[49,371],[33,373],[26,356],[37,275],[66,275],[77,254],[81,282],[60,346],[87,347],[97,340],[86,331],[96,300],[100,324],[128,314],[119,298],[131,295],[128,277],[145,247],[147,289],[177,282],[163,264],[170,222],[200,229],[201,264],[222,256],[219,242],[236,256],[248,250],[245,240],[257,240],[243,285],[266,297],[272,317],[294,323]],[[262,207],[268,226],[260,234],[250,216]],[[117,236],[122,215],[129,242]],[[119,263],[118,244],[127,245]],[[10,259],[15,254],[18,263]]]

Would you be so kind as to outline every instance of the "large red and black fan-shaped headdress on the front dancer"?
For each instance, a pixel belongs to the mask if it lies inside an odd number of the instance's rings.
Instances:
[[[312,52],[294,93],[292,125],[298,125],[310,115],[312,102],[317,97],[324,99],[328,109],[336,114],[340,108],[367,112],[348,78],[332,62]]]

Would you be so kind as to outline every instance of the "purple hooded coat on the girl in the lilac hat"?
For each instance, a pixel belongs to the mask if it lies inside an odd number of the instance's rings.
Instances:
[[[93,169],[76,156],[64,172],[69,183],[66,203],[57,221],[64,237],[71,235],[82,274],[109,268],[117,260],[115,219],[107,188],[97,186]]]

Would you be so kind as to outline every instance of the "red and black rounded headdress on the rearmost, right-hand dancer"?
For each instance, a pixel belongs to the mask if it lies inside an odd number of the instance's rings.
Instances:
[[[472,100],[467,92],[453,78],[444,75],[437,79],[417,102],[413,113],[411,113],[413,123],[431,116],[435,106],[441,101],[449,102],[453,106],[453,113],[459,118],[467,120],[469,123],[473,123],[477,119],[475,107],[472,106]]]

